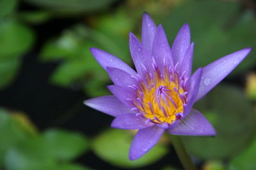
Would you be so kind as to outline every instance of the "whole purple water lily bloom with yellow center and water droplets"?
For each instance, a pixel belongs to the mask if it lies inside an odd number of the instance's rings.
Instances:
[[[113,96],[102,96],[84,104],[115,117],[111,127],[139,129],[132,141],[129,158],[147,153],[164,131],[176,135],[214,136],[214,127],[193,104],[227,76],[252,48],[244,48],[199,68],[191,75],[194,43],[189,25],[184,24],[172,49],[162,25],[143,15],[141,42],[130,33],[134,71],[110,53],[91,48],[114,85]],[[207,57],[207,56],[205,56]]]

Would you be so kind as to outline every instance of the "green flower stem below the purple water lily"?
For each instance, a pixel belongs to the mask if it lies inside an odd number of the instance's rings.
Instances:
[[[172,135],[172,143],[184,169],[196,170],[197,168],[195,164],[193,164],[193,162],[191,161],[191,158],[189,157],[188,152],[186,152],[186,149],[180,137]]]

